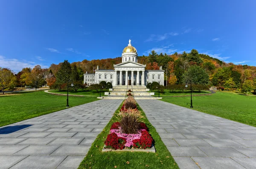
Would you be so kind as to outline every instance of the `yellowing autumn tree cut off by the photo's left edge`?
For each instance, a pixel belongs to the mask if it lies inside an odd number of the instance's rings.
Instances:
[[[4,94],[4,90],[11,90],[16,85],[16,77],[8,68],[0,68],[0,86]]]

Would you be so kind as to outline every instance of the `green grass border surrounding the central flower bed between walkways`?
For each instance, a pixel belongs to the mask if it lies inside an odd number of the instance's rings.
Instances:
[[[102,152],[104,141],[109,134],[110,127],[113,122],[116,122],[116,115],[119,106],[111,121],[103,129],[103,131],[97,136],[93,142],[87,156],[81,162],[79,169],[178,169],[177,163],[172,158],[170,152],[163,144],[160,136],[156,132],[155,128],[149,123],[145,117],[144,122],[149,129],[149,133],[155,141],[156,153],[152,152]],[[138,109],[141,108],[138,106]],[[142,111],[142,110],[141,110]],[[131,149],[132,151],[132,149]],[[115,167],[116,166],[116,167]]]

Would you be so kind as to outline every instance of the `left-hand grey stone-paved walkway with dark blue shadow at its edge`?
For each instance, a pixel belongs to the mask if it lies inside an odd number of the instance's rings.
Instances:
[[[93,101],[0,127],[0,169],[76,169],[121,102]]]

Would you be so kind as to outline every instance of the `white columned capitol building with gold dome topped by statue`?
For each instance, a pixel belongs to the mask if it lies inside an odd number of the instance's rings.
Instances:
[[[114,70],[100,70],[99,66],[93,73],[84,73],[84,83],[88,85],[100,83],[101,81],[111,82],[113,87],[125,86],[145,86],[149,82],[164,83],[164,70],[145,70],[146,65],[138,63],[136,48],[129,40],[122,52],[122,63],[114,65]]]

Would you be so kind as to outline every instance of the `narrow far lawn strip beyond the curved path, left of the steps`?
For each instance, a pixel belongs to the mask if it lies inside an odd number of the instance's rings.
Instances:
[[[101,95],[102,96],[105,96],[104,93],[106,92],[107,90],[103,90],[101,91]],[[49,92],[51,93],[59,93],[59,94],[67,94],[67,91],[66,90],[50,90]],[[99,91],[97,92],[96,90],[93,90],[93,91],[90,91],[90,90],[77,90],[77,91],[69,91],[68,92],[69,94],[73,94],[73,95],[83,95],[83,96],[99,96]]]

